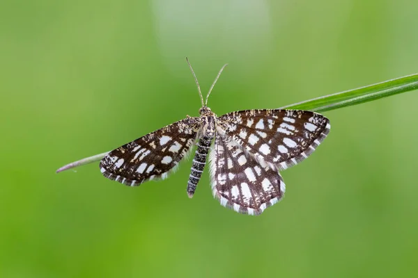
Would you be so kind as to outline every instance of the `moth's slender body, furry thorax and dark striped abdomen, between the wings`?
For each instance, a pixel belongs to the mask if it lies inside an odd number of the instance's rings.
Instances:
[[[201,130],[201,138],[199,138],[196,153],[193,158],[192,171],[190,172],[189,181],[187,181],[187,195],[189,195],[190,198],[193,197],[197,183],[199,183],[203,169],[205,169],[210,144],[215,137],[214,117],[203,117],[203,126]]]

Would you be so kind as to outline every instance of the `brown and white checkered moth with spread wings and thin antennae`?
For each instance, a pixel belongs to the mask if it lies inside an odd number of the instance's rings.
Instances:
[[[100,172],[127,186],[165,179],[196,145],[187,195],[193,197],[209,161],[212,194],[222,206],[259,215],[284,197],[286,186],[279,171],[311,155],[330,131],[330,121],[311,111],[281,109],[218,117],[208,107],[208,98],[227,64],[205,102],[189,60],[187,64],[201,98],[200,116],[187,116],[114,149],[100,161]]]

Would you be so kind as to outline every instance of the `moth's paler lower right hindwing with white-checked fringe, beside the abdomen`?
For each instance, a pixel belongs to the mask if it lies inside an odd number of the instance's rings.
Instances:
[[[217,132],[210,159],[212,193],[222,206],[258,215],[283,197],[285,185],[279,172],[256,160],[231,137]]]

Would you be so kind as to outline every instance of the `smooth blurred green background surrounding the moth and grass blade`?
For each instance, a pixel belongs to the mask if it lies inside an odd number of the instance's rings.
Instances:
[[[325,113],[330,135],[258,217],[186,194],[191,161],[128,188],[98,163],[185,115],[418,72],[417,1],[1,1],[0,277],[413,277],[417,92]],[[206,171],[208,172],[208,171]]]

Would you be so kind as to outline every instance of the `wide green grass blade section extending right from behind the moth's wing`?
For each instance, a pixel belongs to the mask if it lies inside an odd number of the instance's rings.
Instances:
[[[397,95],[401,92],[418,89],[418,74],[403,76],[398,79],[392,79],[365,87],[337,92],[332,95],[318,97],[301,101],[297,104],[291,104],[281,107],[281,109],[299,109],[315,112],[325,112],[346,106],[364,104],[365,102],[382,99],[391,95]]]

